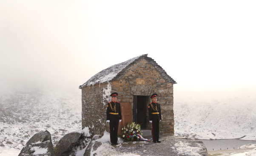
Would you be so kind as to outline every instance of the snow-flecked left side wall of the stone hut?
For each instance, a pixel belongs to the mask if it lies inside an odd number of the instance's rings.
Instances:
[[[106,124],[106,109],[111,101],[110,93],[110,83],[82,88],[82,129],[89,127],[90,133],[97,135],[102,135],[109,129],[109,124]]]

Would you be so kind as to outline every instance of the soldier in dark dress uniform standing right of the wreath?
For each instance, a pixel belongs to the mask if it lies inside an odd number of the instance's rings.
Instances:
[[[162,120],[161,117],[161,107],[160,104],[157,103],[157,94],[154,93],[150,97],[152,102],[148,104],[148,117],[149,122],[152,123],[152,136],[153,142],[161,142],[159,141],[159,122]]]

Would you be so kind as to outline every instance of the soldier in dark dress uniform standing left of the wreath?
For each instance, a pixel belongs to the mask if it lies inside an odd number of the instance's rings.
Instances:
[[[114,92],[110,96],[112,101],[108,102],[107,107],[107,122],[109,123],[110,129],[110,142],[111,145],[118,145],[117,131],[119,122],[121,122],[122,119],[121,106],[120,103],[117,102],[118,93]]]

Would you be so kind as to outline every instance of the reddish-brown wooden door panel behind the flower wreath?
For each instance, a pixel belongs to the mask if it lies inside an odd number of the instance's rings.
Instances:
[[[122,121],[119,122],[118,136],[122,134],[122,127],[127,125],[127,122],[132,123],[131,104],[128,102],[121,103]]]

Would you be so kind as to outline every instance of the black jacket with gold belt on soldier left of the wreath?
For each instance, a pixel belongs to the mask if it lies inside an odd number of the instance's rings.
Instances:
[[[110,114],[115,115],[116,118],[119,120],[122,119],[122,113],[121,113],[121,104],[119,102],[108,102],[108,107],[107,107],[107,120],[110,118]]]

